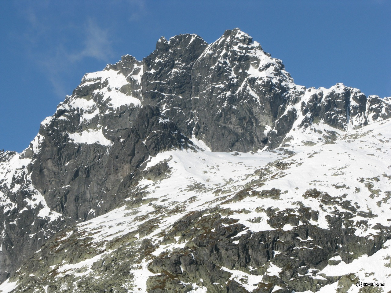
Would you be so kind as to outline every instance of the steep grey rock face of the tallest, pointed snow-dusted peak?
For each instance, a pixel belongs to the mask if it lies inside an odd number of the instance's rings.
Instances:
[[[227,30],[192,70],[196,138],[213,151],[263,148],[266,127],[285,109],[288,88],[283,83],[293,82],[283,68],[248,35]],[[260,78],[265,71],[271,77]]]

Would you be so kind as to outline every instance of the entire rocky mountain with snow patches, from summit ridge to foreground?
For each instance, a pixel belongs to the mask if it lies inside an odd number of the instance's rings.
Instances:
[[[239,29],[162,37],[0,152],[0,292],[388,292],[390,117]]]

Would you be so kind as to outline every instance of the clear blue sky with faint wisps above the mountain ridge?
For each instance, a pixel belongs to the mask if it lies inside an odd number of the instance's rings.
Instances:
[[[391,96],[391,1],[2,1],[0,149],[22,151],[84,73],[156,41],[240,27],[296,84]]]

